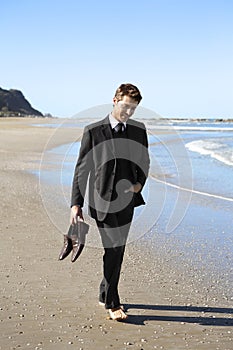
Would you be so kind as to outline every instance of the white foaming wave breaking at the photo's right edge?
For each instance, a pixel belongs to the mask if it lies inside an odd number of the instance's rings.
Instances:
[[[233,166],[233,141],[229,139],[215,139],[195,140],[189,142],[185,147],[192,152],[197,152],[202,155],[211,156],[212,158],[226,164]]]

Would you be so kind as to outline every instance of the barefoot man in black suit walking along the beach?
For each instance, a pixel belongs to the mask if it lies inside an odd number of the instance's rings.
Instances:
[[[89,178],[89,213],[105,250],[99,302],[114,320],[127,318],[118,282],[134,207],[145,204],[141,190],[149,169],[147,134],[143,123],[129,119],[141,99],[136,86],[120,85],[112,113],[84,129],[73,179],[71,223],[75,224],[78,218],[83,220]]]

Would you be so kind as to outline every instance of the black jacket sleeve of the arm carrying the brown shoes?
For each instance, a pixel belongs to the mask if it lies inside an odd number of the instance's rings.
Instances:
[[[83,206],[87,186],[87,179],[93,166],[91,132],[85,127],[81,141],[81,147],[77,164],[74,171],[71,207],[74,205]]]

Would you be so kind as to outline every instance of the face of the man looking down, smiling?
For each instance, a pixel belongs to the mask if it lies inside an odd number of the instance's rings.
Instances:
[[[113,99],[114,108],[112,115],[113,117],[121,123],[127,122],[127,120],[134,114],[138,103],[129,96],[123,96],[122,100],[117,101],[114,97]]]

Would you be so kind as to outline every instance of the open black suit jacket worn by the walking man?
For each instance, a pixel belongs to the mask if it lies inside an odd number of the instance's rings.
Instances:
[[[127,139],[132,184],[145,184],[149,171],[148,140],[145,125],[129,119]],[[89,178],[88,205],[91,217],[103,221],[108,213],[116,174],[116,153],[109,117],[85,127],[75,167],[71,207],[83,206]],[[133,205],[145,204],[141,193],[135,193]]]

